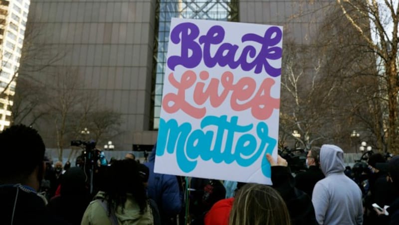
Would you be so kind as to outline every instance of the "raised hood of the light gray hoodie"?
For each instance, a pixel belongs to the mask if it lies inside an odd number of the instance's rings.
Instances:
[[[324,144],[320,149],[320,167],[326,176],[344,172],[344,151],[336,145]]]

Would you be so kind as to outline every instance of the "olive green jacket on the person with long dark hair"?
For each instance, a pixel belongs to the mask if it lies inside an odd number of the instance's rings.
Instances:
[[[95,199],[84,212],[81,225],[112,225],[107,212],[100,202],[105,199],[104,192],[99,192]],[[119,206],[115,210],[115,216],[119,225],[154,225],[150,205],[147,204],[144,214],[140,214],[140,207],[131,195],[128,195],[123,213],[122,208]]]

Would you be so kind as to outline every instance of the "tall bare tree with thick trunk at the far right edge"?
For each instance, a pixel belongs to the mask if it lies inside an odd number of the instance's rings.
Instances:
[[[378,98],[387,104],[387,121],[379,124],[383,131],[380,140],[387,139],[388,150],[398,154],[398,25],[399,2],[378,0],[337,0],[343,15],[355,29],[370,52],[375,53],[381,62],[382,71],[378,74],[380,90]],[[369,24],[365,24],[369,23]],[[384,107],[383,107],[384,108]],[[381,133],[381,132],[380,132]]]

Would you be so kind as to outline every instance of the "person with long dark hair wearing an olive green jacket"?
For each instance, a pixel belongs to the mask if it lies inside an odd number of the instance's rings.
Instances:
[[[99,191],[89,204],[81,225],[154,225],[136,161],[112,163],[104,191]]]

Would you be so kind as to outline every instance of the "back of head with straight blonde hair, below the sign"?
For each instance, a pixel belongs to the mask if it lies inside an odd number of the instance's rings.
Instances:
[[[237,193],[229,225],[290,225],[287,206],[267,185],[246,184]]]

